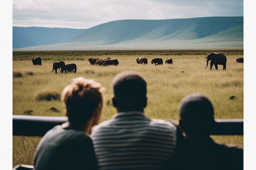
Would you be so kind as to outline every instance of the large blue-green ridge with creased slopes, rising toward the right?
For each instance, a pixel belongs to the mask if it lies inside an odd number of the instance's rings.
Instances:
[[[62,42],[18,50],[243,48],[243,17],[118,20]]]

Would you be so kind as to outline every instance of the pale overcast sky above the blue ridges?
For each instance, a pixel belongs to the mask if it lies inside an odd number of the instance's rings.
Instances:
[[[243,16],[243,0],[13,0],[13,26],[90,28],[123,19]]]

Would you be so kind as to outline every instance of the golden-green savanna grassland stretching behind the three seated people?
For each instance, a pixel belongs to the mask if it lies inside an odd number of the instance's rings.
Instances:
[[[214,50],[215,51],[215,50]],[[14,51],[13,52],[13,115],[64,116],[60,100],[38,101],[38,94],[61,94],[71,79],[83,76],[100,82],[105,88],[101,121],[110,119],[116,110],[112,105],[112,79],[122,71],[139,73],[147,82],[149,118],[178,120],[179,105],[186,95],[200,92],[206,95],[215,109],[215,119],[243,119],[243,50],[221,50],[227,56],[227,69],[207,69],[205,56],[212,50],[159,51]],[[218,50],[220,51],[220,50]],[[42,66],[34,66],[32,58],[40,56]],[[136,58],[145,56],[147,65],[138,65]],[[117,58],[118,66],[90,65],[89,57]],[[152,65],[151,59],[172,58],[173,64]],[[77,73],[55,74],[53,61],[75,63]],[[230,100],[230,96],[235,96]],[[57,110],[50,110],[50,108]],[[27,110],[27,111],[26,111]],[[30,110],[28,112],[28,110]],[[58,112],[58,110],[60,112]],[[33,112],[31,112],[33,111]],[[243,147],[243,136],[213,136],[215,141]],[[35,149],[41,137],[13,136],[13,165],[33,164]]]

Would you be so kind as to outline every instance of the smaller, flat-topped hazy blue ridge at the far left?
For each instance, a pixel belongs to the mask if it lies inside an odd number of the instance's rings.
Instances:
[[[12,31],[13,48],[23,48],[62,42],[81,34],[85,29],[13,26]]]

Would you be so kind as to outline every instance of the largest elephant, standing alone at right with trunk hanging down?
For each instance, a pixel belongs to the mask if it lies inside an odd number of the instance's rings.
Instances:
[[[208,54],[207,57],[205,58],[207,58],[206,59],[207,64],[204,69],[207,68],[209,60],[211,60],[210,69],[212,69],[212,66],[214,65],[216,70],[218,70],[218,64],[223,65],[223,69],[226,69],[227,57],[222,52],[219,52],[219,53],[212,52]]]

